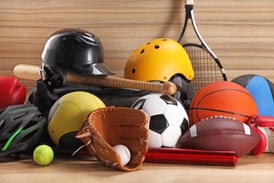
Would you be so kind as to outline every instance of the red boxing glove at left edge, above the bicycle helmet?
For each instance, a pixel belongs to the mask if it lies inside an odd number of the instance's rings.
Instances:
[[[18,85],[17,77],[0,76],[0,108],[23,104],[26,93],[25,85]]]

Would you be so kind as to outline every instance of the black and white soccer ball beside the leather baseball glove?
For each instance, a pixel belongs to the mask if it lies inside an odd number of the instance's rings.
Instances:
[[[172,96],[148,94],[138,99],[131,108],[145,113],[148,118],[148,147],[175,148],[188,130],[188,114]]]

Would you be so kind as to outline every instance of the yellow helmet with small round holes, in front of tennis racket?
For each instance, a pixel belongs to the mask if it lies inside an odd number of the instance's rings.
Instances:
[[[193,80],[194,72],[188,53],[173,39],[154,39],[131,53],[124,68],[124,78],[167,82],[176,74]]]

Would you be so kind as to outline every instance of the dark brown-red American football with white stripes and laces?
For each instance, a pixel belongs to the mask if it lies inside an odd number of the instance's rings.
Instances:
[[[180,139],[183,149],[235,151],[244,156],[259,144],[260,136],[235,118],[214,117],[197,122]]]

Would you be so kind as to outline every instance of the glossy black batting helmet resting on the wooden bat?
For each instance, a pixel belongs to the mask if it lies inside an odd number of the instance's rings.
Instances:
[[[93,33],[74,28],[58,30],[46,40],[41,52],[41,79],[61,87],[63,69],[80,75],[113,74],[104,59],[103,45]]]

